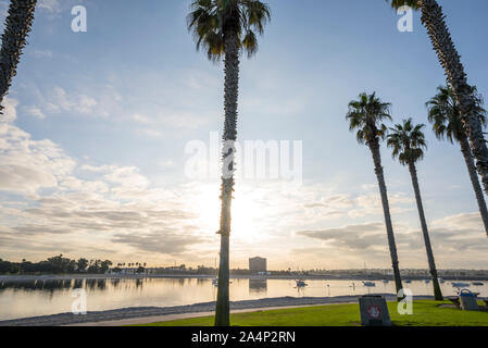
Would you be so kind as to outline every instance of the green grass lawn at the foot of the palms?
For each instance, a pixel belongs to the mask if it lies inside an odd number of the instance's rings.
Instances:
[[[400,315],[397,302],[389,302],[396,326],[488,326],[488,312],[440,308],[450,302],[415,301],[413,315]],[[177,320],[138,326],[212,326],[213,316]],[[230,315],[233,326],[359,326],[359,304],[330,304]]]

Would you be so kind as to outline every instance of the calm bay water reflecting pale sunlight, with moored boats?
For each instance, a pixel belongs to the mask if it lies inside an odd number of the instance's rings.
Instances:
[[[306,281],[308,287],[298,289],[293,279],[232,279],[230,300],[273,297],[327,297],[395,293],[393,282],[375,282],[365,287],[361,281]],[[463,281],[463,283],[470,283]],[[470,289],[488,297],[488,282]],[[404,284],[414,295],[431,295],[431,284],[414,281]],[[455,294],[451,282],[441,284],[445,296]],[[148,279],[70,279],[1,283],[0,320],[71,312],[75,300],[73,289],[87,294],[87,310],[100,311],[127,307],[168,307],[209,302],[216,299],[212,279],[148,278]]]

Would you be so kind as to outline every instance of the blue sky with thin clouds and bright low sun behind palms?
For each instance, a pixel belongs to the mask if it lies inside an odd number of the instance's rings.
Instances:
[[[487,96],[488,3],[439,2],[470,83]],[[302,179],[238,177],[230,265],[261,256],[270,269],[388,269],[373,161],[345,115],[376,91],[395,122],[427,123],[445,76],[420,14],[400,33],[384,0],[267,3],[260,50],[241,58],[239,140],[301,141]],[[79,4],[86,33],[72,30]],[[211,148],[222,130],[224,73],[197,52],[189,4],[39,2],[0,121],[0,258],[215,264],[220,179],[188,175],[188,163],[192,145]],[[7,9],[0,1],[2,23]],[[437,266],[487,269],[460,148],[425,130],[417,169]],[[198,163],[215,164],[211,153]],[[427,268],[409,171],[385,146],[381,156],[400,268]]]

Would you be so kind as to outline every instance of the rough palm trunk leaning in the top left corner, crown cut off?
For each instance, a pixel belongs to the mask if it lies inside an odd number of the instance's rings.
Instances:
[[[22,50],[34,22],[37,0],[12,0],[5,20],[5,32],[2,35],[0,50],[0,114],[3,99],[9,94],[12,78],[21,60]]]

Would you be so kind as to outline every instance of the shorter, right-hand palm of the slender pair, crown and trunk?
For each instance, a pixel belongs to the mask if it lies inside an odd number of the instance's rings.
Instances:
[[[428,266],[433,276],[434,296],[436,301],[441,301],[442,293],[440,291],[439,279],[437,277],[436,261],[434,260],[433,247],[428,235],[427,222],[425,220],[424,206],[422,203],[421,188],[418,186],[418,177],[415,163],[424,158],[424,149],[427,149],[425,135],[422,129],[423,124],[413,125],[412,119],[403,120],[403,124],[397,124],[390,128],[388,135],[388,147],[393,149],[393,159],[398,158],[399,162],[409,166],[412,176],[413,190],[417,202],[418,215],[421,217],[422,233],[424,235],[425,249],[427,251]]]

